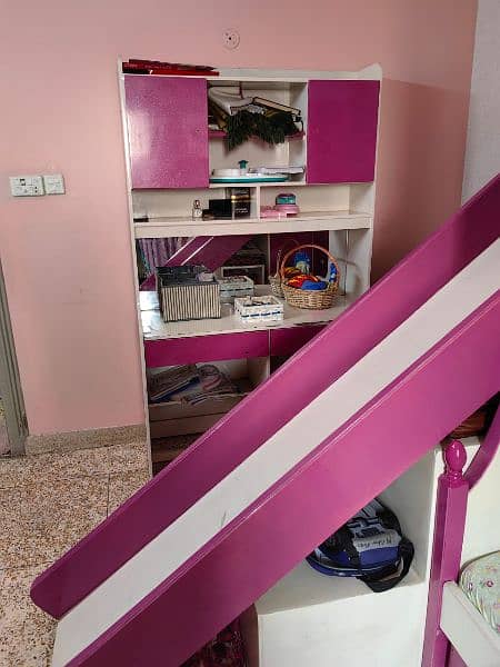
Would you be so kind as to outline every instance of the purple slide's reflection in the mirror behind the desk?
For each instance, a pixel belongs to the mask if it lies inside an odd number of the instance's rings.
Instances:
[[[250,235],[224,237],[192,237],[182,246],[164,265],[166,267],[181,267],[183,265],[203,265],[211,271],[221,267],[227,259],[240,250]],[[156,287],[156,277],[150,276],[142,282],[141,290]]]

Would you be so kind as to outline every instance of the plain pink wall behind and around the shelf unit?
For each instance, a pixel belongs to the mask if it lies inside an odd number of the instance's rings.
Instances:
[[[380,62],[377,278],[459,206],[476,9],[476,0],[6,0],[0,257],[30,431],[143,420],[119,56],[298,69]],[[228,27],[241,33],[237,51],[222,47]],[[8,175],[58,171],[63,197],[8,195]]]

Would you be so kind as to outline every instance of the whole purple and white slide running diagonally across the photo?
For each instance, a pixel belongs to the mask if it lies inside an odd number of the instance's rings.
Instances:
[[[37,579],[32,598],[52,616],[70,618],[86,605],[92,608],[92,596],[98,599],[103,595],[103,585],[111,583],[110,590],[118,590],[112,588],[119,585],[113,575],[124,576],[129,565],[133,567],[134,557],[146,557],[146,547],[153,549],[156,538],[163,539],[169,530],[177,530],[180,517],[198,511],[260,449],[263,458],[270,442],[283,447],[286,437],[292,449],[300,439],[300,429],[294,425],[306,409],[311,415],[320,404],[322,415],[331,409],[331,424],[326,419],[321,426],[326,429],[324,438],[319,439],[317,450],[302,458],[298,454],[297,464],[281,479],[266,487],[262,496],[246,506],[244,511],[228,521],[223,519],[202,548],[191,550],[178,565],[172,560],[168,566],[171,575],[158,581],[139,603],[129,600],[129,608],[123,603],[123,614],[114,623],[107,625],[103,620],[100,626],[99,619],[92,620],[94,627],[89,631],[92,641],[76,639],[74,646],[61,649],[60,655],[71,659],[62,657],[60,665],[136,665],[139,655],[146,660],[142,664],[179,665],[331,529],[498,390],[498,372],[488,359],[500,364],[499,297],[489,283],[478,295],[467,290],[470,291],[471,280],[481,276],[492,261],[489,251],[499,237],[499,210],[500,177],[497,177],[267,382]],[[457,283],[448,290],[453,280],[461,281],[460,289],[469,293],[471,306],[462,315],[457,311],[453,320],[450,305],[447,326],[447,309],[438,308],[432,298],[440,299],[439,303],[451,303],[453,289],[458,289]],[[436,318],[443,320],[442,334],[438,331],[436,338],[432,331],[426,338],[426,321],[417,312],[428,303],[436,310]],[[386,358],[384,339],[391,340],[393,347],[388,358],[396,364],[399,344],[391,334],[407,326],[412,316],[422,320],[419,320],[423,327],[421,347],[417,345],[420,351],[408,366],[402,360],[401,370],[394,366],[394,375],[388,376],[389,379],[384,380],[381,372],[380,388],[367,394],[363,402],[362,378],[373,378],[377,375],[373,369],[378,367],[373,366],[370,374],[364,370],[368,375],[361,374],[358,379],[357,368],[372,362],[371,357],[376,364],[377,355]],[[472,358],[467,350],[474,350],[476,356]],[[466,380],[468,374],[473,375],[474,365],[480,366],[478,359],[482,360],[484,371]],[[333,385],[339,385],[340,391],[344,378],[353,382],[353,396],[361,402],[353,412],[346,408],[343,418],[340,414],[340,420],[336,421],[333,402],[328,400],[332,400]],[[442,396],[449,397],[449,405],[440,405]],[[340,400],[338,404],[343,405]],[[420,418],[423,412],[428,422]],[[417,422],[419,427],[413,435],[408,435],[408,424]],[[309,428],[314,429],[316,422]],[[318,431],[321,428],[318,421]],[[361,460],[359,479],[353,484]],[[312,504],[310,494],[314,487],[334,488],[337,506],[330,516],[318,512],[316,502]],[[287,558],[270,565],[266,557],[269,545],[277,538],[287,539],[287,535],[297,538],[298,527],[300,539],[289,545]],[[167,548],[166,561],[173,558],[174,551],[172,548],[170,554]],[[241,569],[248,559],[253,564],[251,573]],[[78,614],[74,618],[80,621],[83,618],[79,625],[84,625],[84,614],[80,617]],[[104,617],[108,611],[103,609],[102,614]],[[166,615],[168,620],[160,629]],[[111,617],[110,611],[107,618]],[[72,623],[71,618],[68,623]],[[196,631],[180,633],[186,623],[194,624]],[[64,624],[67,619],[62,628]],[[169,646],[168,655],[161,659],[154,633]],[[146,636],[150,648],[139,654],[134,646],[139,637]]]

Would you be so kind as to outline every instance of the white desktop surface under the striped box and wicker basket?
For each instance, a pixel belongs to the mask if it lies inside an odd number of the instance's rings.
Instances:
[[[164,340],[168,338],[189,338],[192,336],[210,336],[213,334],[241,334],[244,331],[267,331],[302,325],[320,325],[329,322],[341,315],[352,302],[349,296],[337,297],[336,305],[326,310],[306,310],[292,308],[284,303],[284,319],[281,322],[259,322],[249,326],[234,315],[233,307],[222,303],[220,319],[189,320],[164,322],[158,308],[158,298],[153,291],[140,293],[141,322],[144,340]],[[256,293],[270,293],[270,287],[256,286]]]

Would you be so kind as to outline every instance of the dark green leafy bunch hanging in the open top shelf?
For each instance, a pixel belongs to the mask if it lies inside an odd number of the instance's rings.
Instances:
[[[226,143],[229,150],[241,146],[251,137],[257,137],[266,143],[283,143],[287,136],[297,132],[293,117],[287,111],[253,113],[243,109],[233,116],[227,116]]]

